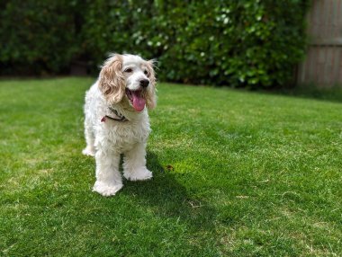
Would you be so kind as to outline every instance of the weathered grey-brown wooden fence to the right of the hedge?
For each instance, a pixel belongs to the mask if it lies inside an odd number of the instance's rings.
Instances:
[[[297,83],[342,86],[342,0],[313,0],[308,25],[311,43]]]

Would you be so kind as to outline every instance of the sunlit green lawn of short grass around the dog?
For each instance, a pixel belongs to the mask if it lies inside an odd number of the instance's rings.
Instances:
[[[342,255],[341,103],[159,84],[154,179],[103,198],[92,82],[0,82],[0,255]]]

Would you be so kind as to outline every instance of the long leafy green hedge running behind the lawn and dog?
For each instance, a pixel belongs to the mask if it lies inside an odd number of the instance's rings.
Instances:
[[[94,73],[109,52],[156,58],[159,80],[286,84],[306,48],[309,0],[38,1],[0,4],[0,74]]]

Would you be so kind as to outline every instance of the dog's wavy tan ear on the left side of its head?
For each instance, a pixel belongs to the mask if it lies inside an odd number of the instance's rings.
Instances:
[[[121,69],[121,55],[113,54],[104,62],[100,72],[100,90],[107,101],[112,103],[121,102],[125,93],[125,83]]]

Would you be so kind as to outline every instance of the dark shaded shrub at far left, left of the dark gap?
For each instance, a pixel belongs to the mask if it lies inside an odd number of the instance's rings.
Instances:
[[[66,71],[82,51],[77,5],[66,0],[12,0],[0,4],[1,73],[39,75]]]

